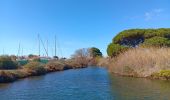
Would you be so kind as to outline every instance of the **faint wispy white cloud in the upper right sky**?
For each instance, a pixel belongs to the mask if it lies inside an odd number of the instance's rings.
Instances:
[[[145,12],[145,20],[149,21],[152,20],[153,18],[156,18],[160,16],[160,14],[163,12],[163,9],[154,9],[149,12]]]

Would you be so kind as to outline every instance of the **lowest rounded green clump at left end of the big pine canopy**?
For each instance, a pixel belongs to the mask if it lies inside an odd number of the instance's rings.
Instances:
[[[110,43],[107,48],[107,54],[108,56],[113,57],[113,56],[120,54],[123,51],[126,51],[127,49],[128,47],[121,46],[119,44]]]

